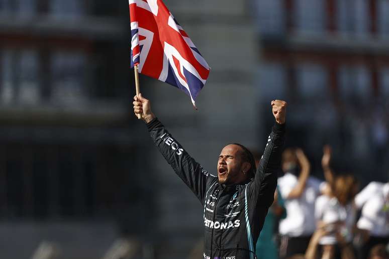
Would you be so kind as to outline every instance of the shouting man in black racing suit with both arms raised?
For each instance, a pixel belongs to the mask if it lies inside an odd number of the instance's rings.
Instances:
[[[134,96],[135,115],[147,123],[151,138],[181,180],[204,206],[204,258],[255,258],[255,243],[273,202],[285,133],[286,102],[271,102],[273,130],[256,172],[254,157],[240,144],[220,153],[218,176],[209,174],[172,138],[151,111],[150,101]]]

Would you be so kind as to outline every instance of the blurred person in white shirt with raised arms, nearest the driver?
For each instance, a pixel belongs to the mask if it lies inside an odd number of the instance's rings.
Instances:
[[[299,170],[300,167],[300,170]],[[279,223],[280,257],[304,254],[316,229],[315,200],[325,185],[310,177],[310,163],[301,149],[286,149],[278,187],[285,202],[286,218]]]

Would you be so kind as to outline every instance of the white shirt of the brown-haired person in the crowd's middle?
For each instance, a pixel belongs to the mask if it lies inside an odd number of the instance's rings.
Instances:
[[[342,226],[340,228],[341,233],[344,235],[345,240],[350,242],[352,239],[352,227],[355,222],[356,211],[352,203],[343,206],[339,203],[338,199],[335,197],[329,197],[327,195],[322,195],[317,198],[315,203],[315,218],[317,221],[322,221],[325,224],[328,224],[329,227],[331,224],[341,222]],[[326,236],[323,236],[319,240],[320,244],[336,244],[335,233],[330,233]]]

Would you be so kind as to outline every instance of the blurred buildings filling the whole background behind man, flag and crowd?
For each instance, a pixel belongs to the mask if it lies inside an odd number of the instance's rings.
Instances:
[[[337,170],[387,181],[389,1],[164,3],[210,78],[199,111],[157,80],[141,90],[207,170],[228,143],[263,150],[278,98],[315,175],[329,143]],[[128,15],[124,0],[0,0],[1,258],[186,258],[199,243],[199,201],[132,112]]]

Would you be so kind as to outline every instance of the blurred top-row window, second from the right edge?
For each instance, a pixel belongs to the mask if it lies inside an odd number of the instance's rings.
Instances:
[[[338,0],[337,23],[340,32],[367,36],[369,28],[368,2],[365,0]]]

